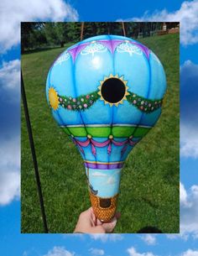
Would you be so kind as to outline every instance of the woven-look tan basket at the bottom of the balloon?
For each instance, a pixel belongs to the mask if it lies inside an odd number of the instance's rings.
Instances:
[[[91,206],[96,217],[101,222],[110,222],[114,217],[117,208],[117,196],[102,198],[90,192]]]

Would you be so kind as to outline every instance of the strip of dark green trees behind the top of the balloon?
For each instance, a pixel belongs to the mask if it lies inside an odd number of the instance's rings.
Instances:
[[[178,23],[166,23],[167,29]],[[125,22],[124,29],[130,38],[148,37],[161,30],[163,23],[157,22]],[[83,39],[99,34],[123,35],[121,22],[86,22],[83,29]],[[81,40],[81,23],[22,23],[21,49],[34,50],[44,47],[60,46],[65,43]]]

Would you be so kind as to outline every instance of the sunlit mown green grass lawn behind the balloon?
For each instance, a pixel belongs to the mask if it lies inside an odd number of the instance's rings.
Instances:
[[[179,34],[141,39],[164,65],[168,92],[156,126],[129,154],[122,170],[115,232],[138,232],[147,226],[179,232]],[[66,45],[67,48],[69,45]],[[79,214],[90,206],[86,174],[75,145],[52,118],[45,99],[50,65],[64,49],[22,56],[44,206],[50,232],[73,232]],[[22,232],[44,232],[39,196],[22,106]]]

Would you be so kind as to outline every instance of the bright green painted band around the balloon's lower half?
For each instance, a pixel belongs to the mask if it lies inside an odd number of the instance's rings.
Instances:
[[[114,126],[114,127],[68,127],[63,128],[66,134],[74,135],[75,137],[86,137],[90,134],[92,137],[105,138],[113,135],[116,138],[130,137],[143,137],[150,128],[136,128],[130,126]]]

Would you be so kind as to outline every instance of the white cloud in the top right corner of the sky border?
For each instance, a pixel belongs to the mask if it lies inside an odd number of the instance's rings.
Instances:
[[[198,1],[185,1],[179,10],[169,13],[166,9],[148,11],[142,17],[128,18],[133,21],[167,21],[180,22],[180,43],[196,44],[198,42]]]

